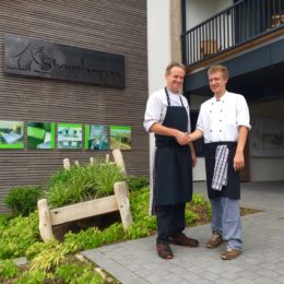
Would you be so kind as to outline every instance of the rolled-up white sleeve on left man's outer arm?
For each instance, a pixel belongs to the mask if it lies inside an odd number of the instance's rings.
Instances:
[[[153,93],[146,104],[146,110],[144,115],[144,128],[149,132],[150,128],[161,120],[163,104],[156,93]]]

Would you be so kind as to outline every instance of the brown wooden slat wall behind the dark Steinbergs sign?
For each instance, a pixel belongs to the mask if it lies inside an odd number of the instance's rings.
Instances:
[[[126,88],[3,73],[4,33],[125,55]],[[0,120],[131,126],[126,167],[131,175],[147,175],[146,98],[145,0],[0,0]],[[86,163],[106,153],[0,150],[0,212],[7,210],[1,200],[10,189],[46,185],[63,158]]]

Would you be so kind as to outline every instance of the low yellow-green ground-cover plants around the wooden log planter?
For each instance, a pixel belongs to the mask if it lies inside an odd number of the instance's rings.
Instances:
[[[67,175],[60,177],[59,182],[62,182],[62,179],[67,180]],[[4,273],[8,279],[13,279],[13,283],[19,284],[104,283],[98,273],[95,273],[88,265],[78,264],[72,255],[81,250],[153,234],[156,230],[156,217],[149,215],[149,187],[130,192],[133,224],[128,229],[123,230],[121,222],[116,222],[104,230],[90,227],[78,234],[66,234],[62,244],[56,239],[47,242],[39,240],[37,212],[27,217],[17,216],[10,220],[5,215],[0,215],[0,259],[26,256],[31,263],[31,271],[17,279],[14,279],[16,274],[11,262],[0,265],[0,282],[4,280]],[[187,204],[187,225],[200,222],[196,212],[201,212],[205,220],[209,208],[204,196],[193,194],[192,202]]]

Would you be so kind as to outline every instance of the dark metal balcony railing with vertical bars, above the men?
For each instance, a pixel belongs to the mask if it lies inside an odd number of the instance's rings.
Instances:
[[[284,26],[283,0],[242,0],[181,35],[191,66]]]

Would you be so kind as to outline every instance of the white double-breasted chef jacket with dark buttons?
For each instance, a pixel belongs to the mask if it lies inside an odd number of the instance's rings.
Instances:
[[[220,100],[214,96],[201,105],[197,129],[203,132],[204,143],[235,142],[240,126],[251,128],[248,105],[242,95],[226,92]]]

